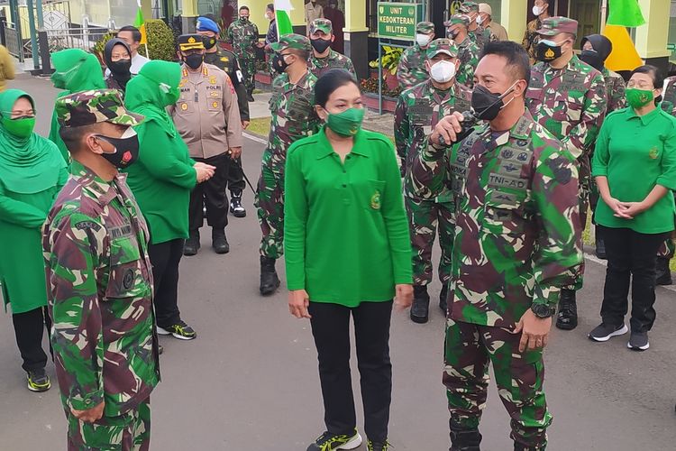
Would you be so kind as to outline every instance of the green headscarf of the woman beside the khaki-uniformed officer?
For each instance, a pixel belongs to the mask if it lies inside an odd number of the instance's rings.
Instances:
[[[152,60],[145,63],[139,75],[127,83],[124,106],[133,113],[145,116],[145,123],[156,121],[169,136],[176,136],[176,126],[167,113],[180,91],[181,67],[178,63]],[[141,125],[143,126],[143,125]]]

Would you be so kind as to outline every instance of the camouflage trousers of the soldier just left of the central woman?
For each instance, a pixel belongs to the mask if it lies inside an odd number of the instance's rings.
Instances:
[[[260,255],[279,259],[284,253],[284,165],[286,157],[268,149],[263,152],[254,206],[263,234]]]

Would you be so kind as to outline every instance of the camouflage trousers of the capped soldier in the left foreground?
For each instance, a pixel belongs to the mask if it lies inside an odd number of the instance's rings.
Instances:
[[[67,412],[69,451],[148,451],[151,447],[151,400],[119,417],[84,423]]]

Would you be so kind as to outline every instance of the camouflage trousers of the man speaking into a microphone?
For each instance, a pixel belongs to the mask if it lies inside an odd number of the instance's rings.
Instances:
[[[552,415],[544,400],[542,349],[520,353],[521,334],[501,327],[454,321],[446,323],[443,385],[451,424],[479,428],[486,407],[489,364],[493,364],[502,403],[511,417],[510,437],[529,450],[547,445]]]

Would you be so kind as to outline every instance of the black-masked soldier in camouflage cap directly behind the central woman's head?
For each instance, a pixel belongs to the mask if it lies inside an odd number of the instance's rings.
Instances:
[[[310,23],[308,37],[312,44],[309,69],[316,78],[320,78],[330,69],[345,69],[352,74],[354,79],[357,79],[352,60],[331,48],[335,36],[333,36],[333,25],[330,20],[315,19]]]

